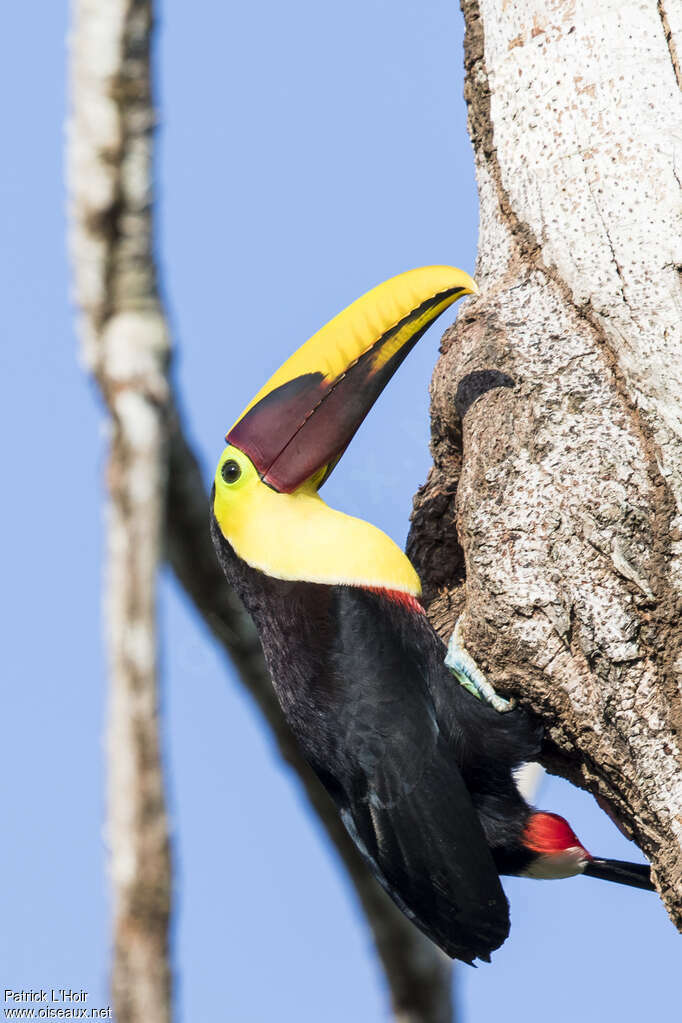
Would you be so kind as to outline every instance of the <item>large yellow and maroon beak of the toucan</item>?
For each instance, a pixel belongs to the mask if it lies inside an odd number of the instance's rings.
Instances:
[[[316,475],[321,486],[424,330],[478,291],[462,270],[428,266],[367,292],[280,366],[234,424],[228,443],[281,493]]]

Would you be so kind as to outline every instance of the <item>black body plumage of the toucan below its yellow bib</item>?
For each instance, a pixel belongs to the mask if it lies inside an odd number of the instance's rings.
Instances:
[[[378,881],[448,954],[489,959],[509,930],[498,874],[524,866],[530,809],[512,769],[537,753],[540,728],[466,693],[416,608],[271,578],[234,553],[213,515],[212,535],[286,719]]]

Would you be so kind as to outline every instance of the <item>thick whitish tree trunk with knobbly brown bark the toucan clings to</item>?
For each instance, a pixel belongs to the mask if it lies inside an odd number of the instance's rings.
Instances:
[[[682,15],[462,9],[482,295],[444,338],[409,550],[680,927]]]

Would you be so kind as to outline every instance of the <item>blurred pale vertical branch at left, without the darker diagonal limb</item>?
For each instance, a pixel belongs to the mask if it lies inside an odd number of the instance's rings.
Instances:
[[[106,611],[112,997],[121,1023],[171,1018],[171,861],[157,720],[155,589],[169,339],[155,285],[143,2],[76,0],[69,170],[86,361],[111,422]]]

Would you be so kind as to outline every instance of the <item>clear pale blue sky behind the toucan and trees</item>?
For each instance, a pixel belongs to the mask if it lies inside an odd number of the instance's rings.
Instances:
[[[105,432],[69,302],[66,31],[62,0],[39,16],[12,4],[0,61],[0,994],[85,988],[98,1007],[108,1004]],[[208,480],[266,374],[348,302],[413,266],[473,269],[462,19],[454,0],[167,0],[156,58],[158,253]],[[401,543],[428,466],[440,330],[325,488],[330,503]],[[381,977],[334,852],[167,576],[160,623],[179,1018],[384,1020]],[[565,783],[545,783],[539,802],[593,852],[637,856]],[[511,936],[492,966],[457,970],[463,1019],[676,1018],[682,944],[655,896],[583,878],[505,887]]]

